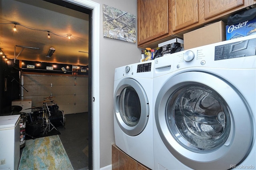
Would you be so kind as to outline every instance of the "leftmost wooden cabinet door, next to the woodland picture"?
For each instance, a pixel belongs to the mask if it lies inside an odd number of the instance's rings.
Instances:
[[[138,0],[138,45],[168,34],[168,0]]]

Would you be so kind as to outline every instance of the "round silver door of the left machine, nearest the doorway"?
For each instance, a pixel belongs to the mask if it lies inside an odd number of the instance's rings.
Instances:
[[[114,114],[118,125],[129,136],[140,134],[148,122],[146,92],[132,78],[122,80],[114,92]]]

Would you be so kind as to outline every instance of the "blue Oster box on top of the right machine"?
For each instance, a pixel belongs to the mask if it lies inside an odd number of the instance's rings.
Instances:
[[[256,18],[226,26],[226,40],[256,34]]]

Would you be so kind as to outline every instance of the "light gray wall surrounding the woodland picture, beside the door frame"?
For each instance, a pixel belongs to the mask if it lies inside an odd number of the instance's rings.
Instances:
[[[103,37],[102,5],[134,14],[137,20],[137,0],[93,0],[100,4],[100,168],[111,164],[111,144],[114,140],[114,70],[140,61],[136,44]],[[137,31],[137,22],[136,22]]]

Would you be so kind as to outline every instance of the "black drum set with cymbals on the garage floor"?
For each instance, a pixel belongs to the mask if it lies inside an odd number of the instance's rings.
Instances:
[[[32,107],[32,112],[27,114],[26,135],[34,138],[41,133],[44,135],[52,130],[59,131],[56,127],[64,127],[65,114],[52,100],[54,96],[44,98],[42,107]],[[25,110],[27,110],[25,109]]]

